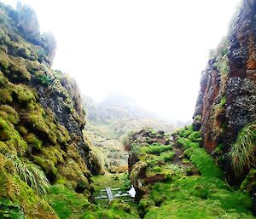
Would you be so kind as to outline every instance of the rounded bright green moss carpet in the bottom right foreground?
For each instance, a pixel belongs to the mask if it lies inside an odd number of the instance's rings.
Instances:
[[[229,190],[220,179],[183,176],[172,182],[158,182],[151,191],[139,205],[146,219],[253,218],[249,195]]]

